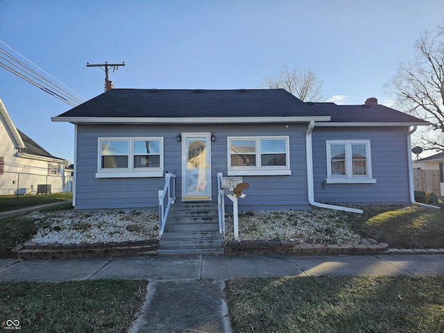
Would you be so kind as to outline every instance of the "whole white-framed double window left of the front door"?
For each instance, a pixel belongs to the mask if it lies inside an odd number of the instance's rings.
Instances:
[[[96,178],[163,176],[162,137],[99,138]]]

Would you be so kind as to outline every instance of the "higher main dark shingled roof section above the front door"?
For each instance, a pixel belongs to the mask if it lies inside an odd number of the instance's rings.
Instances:
[[[313,117],[284,89],[111,89],[58,117]]]

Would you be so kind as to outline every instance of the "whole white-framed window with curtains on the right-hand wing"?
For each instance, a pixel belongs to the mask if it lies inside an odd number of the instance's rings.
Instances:
[[[327,184],[372,182],[370,140],[327,140]]]

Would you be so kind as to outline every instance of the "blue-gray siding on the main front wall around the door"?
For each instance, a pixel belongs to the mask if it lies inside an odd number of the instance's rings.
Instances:
[[[250,188],[239,199],[239,210],[307,209],[307,171],[305,156],[306,124],[277,125],[78,125],[76,160],[76,209],[146,208],[157,209],[157,191],[163,178],[96,178],[99,137],[163,137],[164,171],[176,173],[176,196],[182,197],[182,145],[179,133],[213,133],[212,200],[217,200],[216,174],[227,176],[227,137],[281,136],[290,138],[291,176],[243,176]],[[227,210],[232,203],[225,198]]]

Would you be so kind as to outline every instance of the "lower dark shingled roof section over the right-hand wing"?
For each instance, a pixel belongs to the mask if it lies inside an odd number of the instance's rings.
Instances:
[[[336,105],[334,103],[313,103],[316,110],[323,115],[332,116],[330,122],[352,123],[421,123],[422,121],[409,114],[405,114],[384,105]]]

